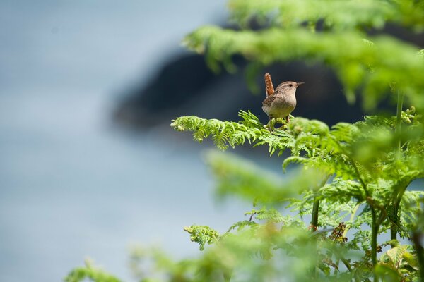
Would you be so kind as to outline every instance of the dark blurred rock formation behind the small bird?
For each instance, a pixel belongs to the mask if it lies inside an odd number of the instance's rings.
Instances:
[[[241,59],[236,61],[238,66],[245,66]],[[357,121],[363,115],[359,106],[346,102],[341,85],[324,66],[294,62],[264,68],[256,78],[261,88],[266,72],[271,73],[274,86],[286,80],[305,82],[296,94],[294,116],[334,124]],[[114,118],[134,128],[148,128],[182,115],[237,121],[237,112],[249,109],[266,122],[267,116],[261,110],[264,97],[264,91],[252,94],[247,88],[241,69],[235,74],[215,74],[207,68],[204,57],[190,54],[172,59],[147,85],[130,93],[117,107]]]

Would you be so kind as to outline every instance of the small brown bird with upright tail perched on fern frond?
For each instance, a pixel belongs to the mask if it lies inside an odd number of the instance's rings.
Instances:
[[[278,85],[273,90],[271,75],[265,74],[266,99],[262,102],[262,109],[269,116],[269,121],[273,118],[286,118],[296,107],[296,88],[304,82],[286,81]]]

